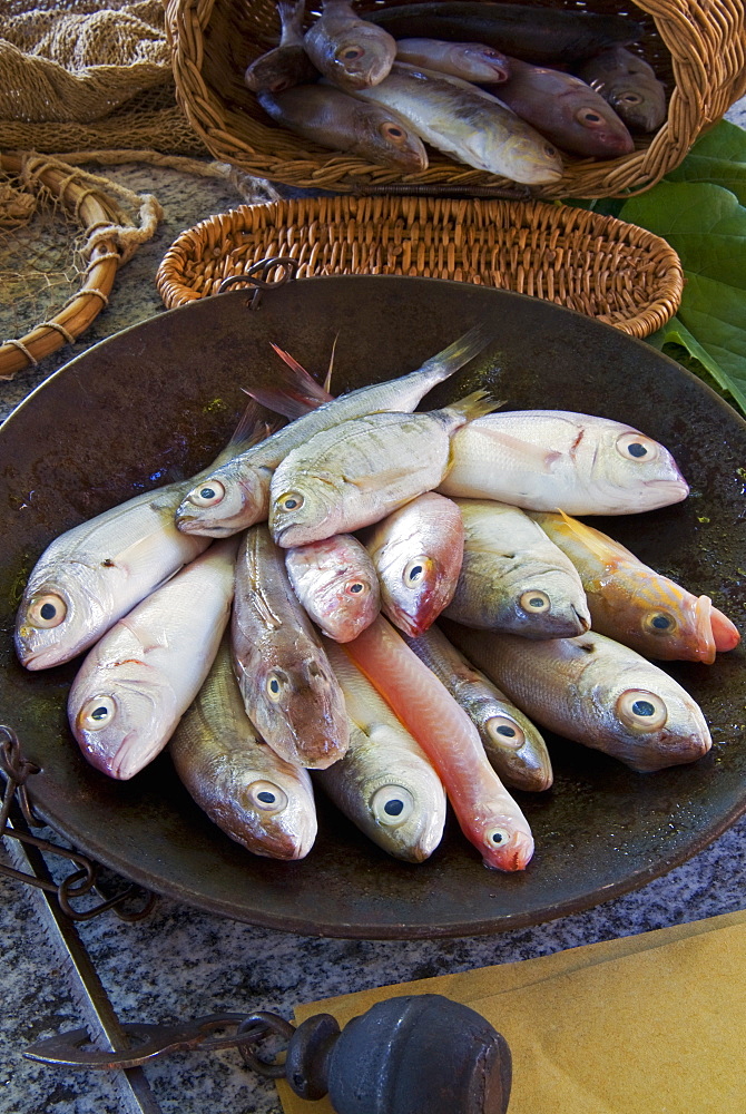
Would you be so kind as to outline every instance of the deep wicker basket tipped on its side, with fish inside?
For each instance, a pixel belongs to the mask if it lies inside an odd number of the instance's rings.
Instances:
[[[334,155],[277,127],[243,84],[246,66],[277,41],[274,0],[165,0],[179,104],[215,158],[249,174],[306,188],[385,193],[406,182],[409,193],[449,193],[512,186],[434,153],[421,174],[399,172],[351,155]],[[361,0],[363,11],[395,0]],[[537,0],[522,0],[537,4]],[[543,4],[627,11],[645,27],[641,47],[669,94],[668,119],[632,154],[608,162],[568,156],[565,176],[539,186],[537,197],[608,197],[639,193],[681,162],[699,133],[746,90],[743,0],[543,0]],[[318,6],[314,3],[314,9]],[[315,16],[310,14],[308,22]]]

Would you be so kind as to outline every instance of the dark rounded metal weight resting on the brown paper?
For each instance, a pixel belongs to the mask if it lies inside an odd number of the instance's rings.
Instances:
[[[291,1037],[285,1078],[302,1098],[328,1092],[336,1114],[505,1114],[508,1042],[439,994],[376,1003],[340,1032],[317,1014]]]

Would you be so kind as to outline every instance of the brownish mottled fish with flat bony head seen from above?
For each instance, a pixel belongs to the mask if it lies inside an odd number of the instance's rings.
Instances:
[[[264,525],[238,551],[232,646],[246,714],[265,742],[311,769],[341,759],[350,740],[342,691]]]

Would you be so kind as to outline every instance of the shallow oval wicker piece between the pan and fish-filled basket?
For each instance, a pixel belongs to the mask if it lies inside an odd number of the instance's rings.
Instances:
[[[397,274],[482,283],[557,302],[632,336],[676,313],[683,273],[658,236],[544,202],[321,197],[242,205],[190,228],[158,268],[167,306],[217,292],[264,258],[301,276]]]

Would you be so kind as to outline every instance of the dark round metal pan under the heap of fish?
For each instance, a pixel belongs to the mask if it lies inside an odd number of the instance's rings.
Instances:
[[[62,530],[213,459],[245,403],[272,381],[274,341],[316,374],[336,345],[333,389],[410,371],[478,321],[498,341],[425,405],[477,385],[511,409],[549,407],[626,421],[662,441],[691,496],[647,515],[597,519],[647,564],[711,595],[746,631],[746,424],[642,342],[546,302],[468,284],[338,276],[233,291],[98,344],[37,390],[0,431],[0,723],[41,766],[38,810],[72,843],[146,887],[213,912],[303,934],[363,938],[475,935],[588,908],[665,873],[746,809],[742,648],[713,666],[671,664],[700,702],[714,747],[690,766],[637,774],[550,736],[554,788],[519,794],[536,834],[527,871],[485,870],[451,821],[422,866],[389,858],[320,802],[308,858],[251,856],[190,801],[167,754],[130,782],[91,769],[68,731],[77,663],[28,673],[12,627],[20,590]]]

